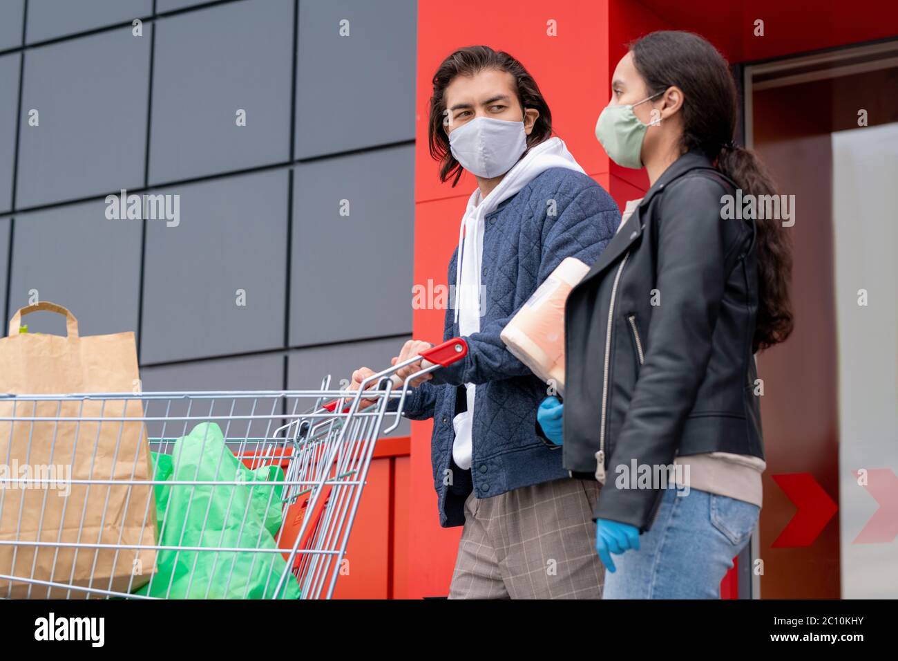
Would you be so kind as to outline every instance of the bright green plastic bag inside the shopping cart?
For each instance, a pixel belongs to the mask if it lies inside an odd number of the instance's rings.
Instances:
[[[247,469],[233,456],[217,424],[198,424],[174,442],[171,455],[153,453],[157,480],[239,480],[252,487],[156,485],[160,546],[277,549],[283,471]],[[204,523],[205,522],[205,523]],[[170,599],[270,599],[286,567],[280,553],[160,550],[153,580],[135,594]],[[170,589],[171,586],[171,589]],[[278,598],[297,599],[287,575]]]

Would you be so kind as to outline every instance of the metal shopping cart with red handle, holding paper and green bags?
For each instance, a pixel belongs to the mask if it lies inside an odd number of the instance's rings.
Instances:
[[[0,598],[330,598],[378,436],[466,353],[354,390],[0,396]]]

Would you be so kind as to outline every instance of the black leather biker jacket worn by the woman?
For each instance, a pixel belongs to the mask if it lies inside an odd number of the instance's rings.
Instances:
[[[684,154],[568,296],[564,466],[598,477],[603,457],[596,518],[650,529],[661,489],[617,484],[633,460],[655,474],[677,454],[763,457],[754,227],[721,218],[724,194],[733,183]]]

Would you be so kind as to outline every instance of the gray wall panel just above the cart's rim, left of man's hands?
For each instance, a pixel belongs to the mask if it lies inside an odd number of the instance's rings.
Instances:
[[[402,344],[409,339],[410,335],[390,340],[370,340],[291,351],[287,353],[287,388],[317,390],[321,388],[321,380],[329,374],[329,389],[348,387],[353,370],[370,367],[374,371],[381,371],[389,367],[390,359],[400,352]],[[342,380],[346,382],[341,383]],[[389,419],[384,427],[393,422]],[[405,436],[409,431],[409,421],[403,420],[391,435]]]

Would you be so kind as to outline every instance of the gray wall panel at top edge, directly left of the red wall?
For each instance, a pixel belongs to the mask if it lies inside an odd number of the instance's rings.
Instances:
[[[297,157],[415,137],[417,16],[415,0],[300,2]]]

